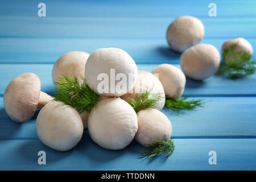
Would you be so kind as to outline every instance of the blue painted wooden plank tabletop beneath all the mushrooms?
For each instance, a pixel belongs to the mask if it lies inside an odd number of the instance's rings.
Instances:
[[[202,20],[202,43],[220,51],[226,39],[243,36],[256,47],[256,1],[214,1],[217,17],[208,16],[212,1],[44,1],[47,17],[39,18],[39,1],[5,1],[0,6],[0,169],[33,170],[251,170],[256,169],[256,74],[230,81],[211,77],[187,79],[185,96],[205,98],[196,111],[176,114],[164,108],[172,122],[175,152],[153,162],[139,158],[143,147],[133,141],[119,151],[93,143],[88,131],[68,152],[44,146],[36,135],[35,119],[15,123],[3,108],[3,93],[11,79],[24,72],[40,77],[42,90],[52,93],[53,63],[65,52],[91,53],[101,47],[127,51],[140,70],[162,63],[180,68],[180,54],[168,48],[168,24],[177,16]],[[254,49],[254,52],[256,50]],[[47,153],[46,166],[38,151]],[[217,152],[209,165],[208,152]]]

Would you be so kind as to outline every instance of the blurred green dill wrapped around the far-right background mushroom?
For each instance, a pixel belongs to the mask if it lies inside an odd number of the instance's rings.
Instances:
[[[237,43],[222,51],[222,61],[217,76],[224,76],[232,80],[251,75],[255,72],[254,60],[248,52],[236,51]]]

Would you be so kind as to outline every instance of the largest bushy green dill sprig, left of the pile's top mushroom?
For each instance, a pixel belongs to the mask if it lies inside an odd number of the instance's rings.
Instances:
[[[53,92],[53,98],[56,101],[75,107],[79,113],[85,110],[90,113],[99,100],[98,94],[90,89],[85,78],[82,78],[82,83],[80,83],[76,76],[69,78],[63,75],[63,77],[59,77],[55,85],[57,87]]]

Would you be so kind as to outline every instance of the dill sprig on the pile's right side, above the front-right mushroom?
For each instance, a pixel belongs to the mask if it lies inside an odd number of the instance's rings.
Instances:
[[[137,94],[135,100],[129,97],[127,102],[138,113],[142,109],[155,108],[160,98],[159,93],[150,94],[150,90],[146,89],[142,94]]]

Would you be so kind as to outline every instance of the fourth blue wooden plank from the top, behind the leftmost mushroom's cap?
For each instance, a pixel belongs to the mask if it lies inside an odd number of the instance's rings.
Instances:
[[[176,67],[179,65],[174,64]],[[158,64],[137,64],[139,70],[151,72]],[[52,93],[54,85],[52,82],[53,64],[0,64],[0,96],[5,92],[6,86],[16,76],[32,72],[39,76],[42,90]],[[180,68],[180,67],[179,67]],[[187,79],[185,96],[255,96],[256,74],[247,76],[240,80],[227,80],[222,77],[210,77],[204,81]]]

